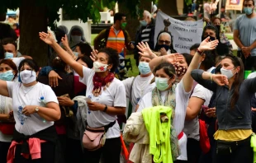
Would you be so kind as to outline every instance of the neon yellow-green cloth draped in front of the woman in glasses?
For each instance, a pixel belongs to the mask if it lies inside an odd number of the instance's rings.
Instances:
[[[172,163],[170,142],[171,123],[161,123],[160,114],[166,114],[171,119],[173,109],[168,106],[154,106],[143,109],[142,115],[145,127],[149,133],[149,154],[153,155],[155,163]]]

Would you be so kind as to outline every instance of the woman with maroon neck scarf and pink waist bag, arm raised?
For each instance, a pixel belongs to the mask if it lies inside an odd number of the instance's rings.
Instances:
[[[89,69],[74,61],[72,56],[54,41],[52,35],[41,32],[40,40],[50,44],[59,57],[79,74],[80,81],[87,86],[88,128],[107,128],[103,147],[89,151],[87,146],[83,146],[85,162],[98,163],[102,156],[104,162],[120,163],[121,133],[116,115],[126,113],[126,88],[114,77],[113,72],[119,64],[116,50],[109,48],[100,50],[93,63],[93,69]]]

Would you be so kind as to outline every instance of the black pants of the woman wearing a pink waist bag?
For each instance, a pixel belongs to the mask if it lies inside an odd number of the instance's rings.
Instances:
[[[106,139],[105,145],[97,151],[83,151],[84,162],[89,163],[99,163],[101,156],[105,163],[120,163],[120,154],[120,137]]]

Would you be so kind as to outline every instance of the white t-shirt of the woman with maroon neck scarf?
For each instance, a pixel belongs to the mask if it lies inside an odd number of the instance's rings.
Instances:
[[[93,102],[100,103],[102,105],[112,106],[112,107],[125,107],[126,108],[126,88],[124,84],[118,79],[114,78],[110,86],[103,90],[102,94],[95,97],[92,95],[93,82],[92,78],[95,72],[92,69],[83,67],[83,78],[80,77],[80,81],[87,86],[86,95]],[[87,121],[88,125],[92,128],[99,128],[106,126],[107,124],[115,121],[117,119],[116,115],[107,114],[103,111],[90,111],[88,110]],[[109,128],[106,137],[120,137],[120,126],[116,121],[116,124],[112,128]]]

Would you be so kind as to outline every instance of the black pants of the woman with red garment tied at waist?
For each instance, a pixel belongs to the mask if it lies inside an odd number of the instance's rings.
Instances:
[[[41,143],[41,158],[31,160],[21,156],[21,145],[17,145],[15,151],[14,163],[54,163],[55,161],[55,145],[52,142]]]

